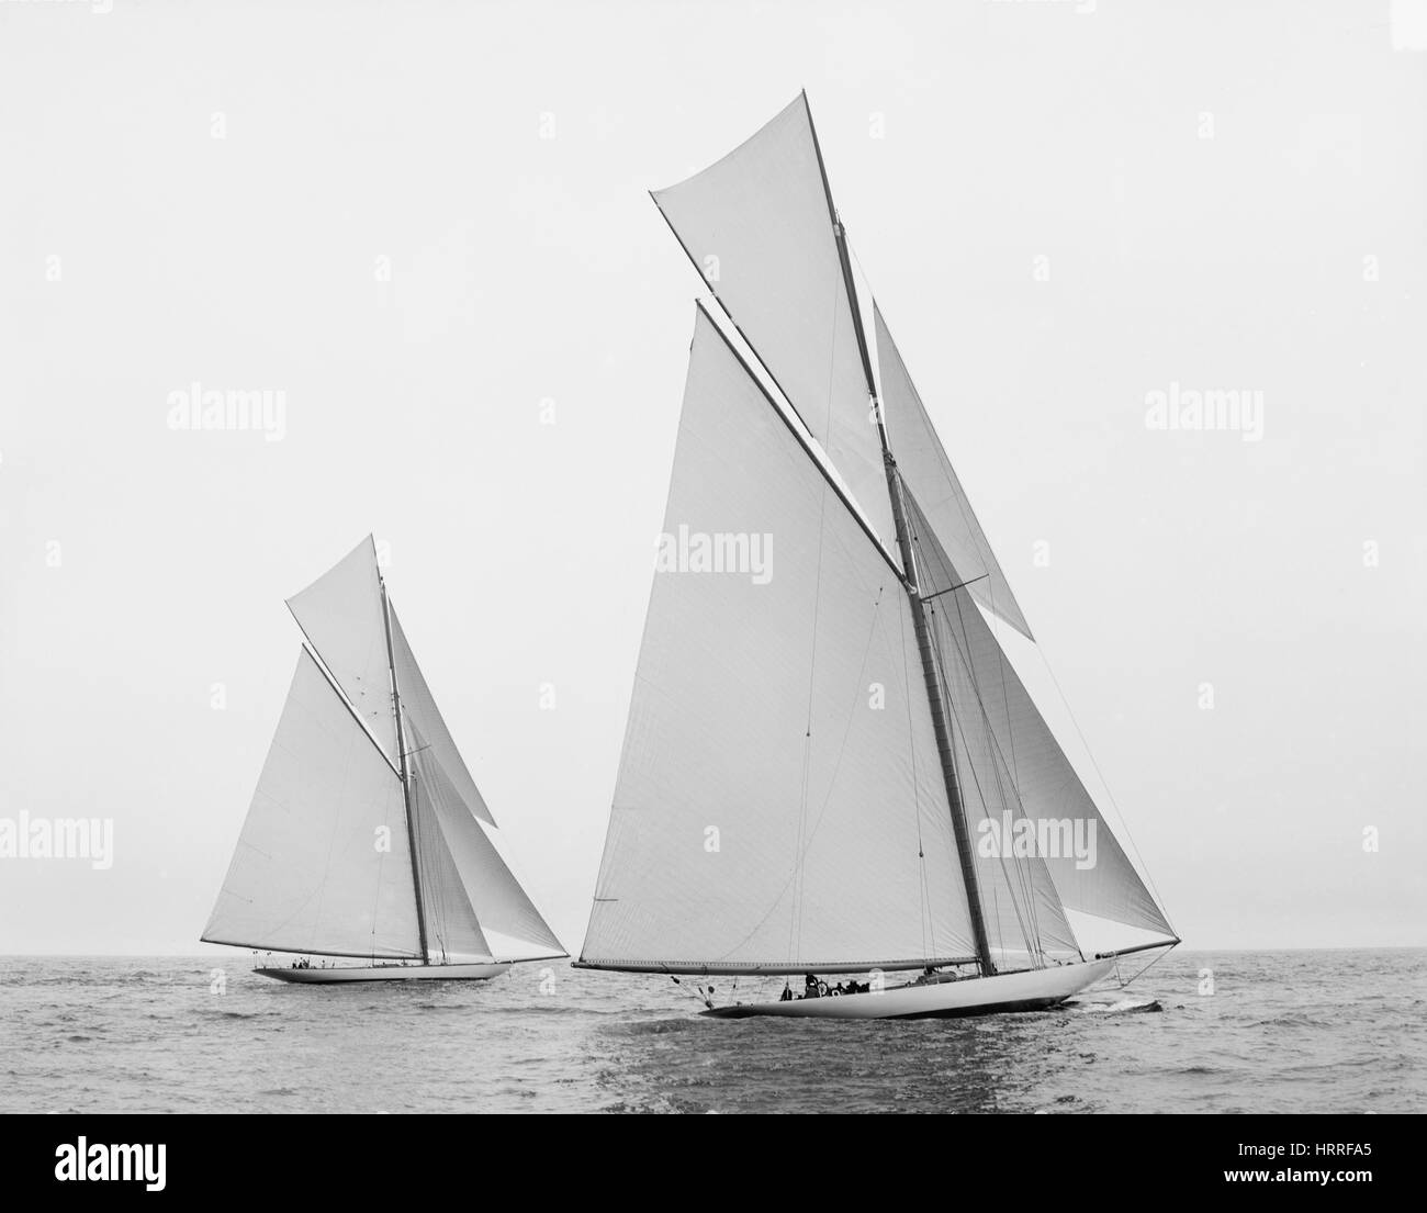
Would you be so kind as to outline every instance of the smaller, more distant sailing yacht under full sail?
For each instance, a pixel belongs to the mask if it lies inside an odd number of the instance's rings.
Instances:
[[[257,970],[323,985],[565,956],[485,833],[371,537],[287,605],[307,645],[204,942],[368,962]]]

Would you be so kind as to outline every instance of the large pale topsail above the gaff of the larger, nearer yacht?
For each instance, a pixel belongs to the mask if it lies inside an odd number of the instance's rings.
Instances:
[[[654,200],[873,531],[895,549],[882,445],[806,97]]]

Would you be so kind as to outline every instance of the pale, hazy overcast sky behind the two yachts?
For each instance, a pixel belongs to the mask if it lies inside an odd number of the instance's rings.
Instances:
[[[1423,4],[93,0],[0,3],[0,818],[114,853],[0,859],[0,953],[200,950],[367,532],[578,950],[702,291],[646,191],[801,88],[1186,945],[1427,943]]]

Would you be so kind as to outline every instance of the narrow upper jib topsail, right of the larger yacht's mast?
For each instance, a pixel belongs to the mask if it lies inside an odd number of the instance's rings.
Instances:
[[[872,314],[882,380],[882,408],[902,479],[922,504],[936,538],[962,578],[968,581],[980,578],[969,587],[970,595],[1029,638],[1030,625],[1010,592],[1010,584],[966,499],[962,482],[952,470],[952,461],[922,405],[922,398],[876,304]]]

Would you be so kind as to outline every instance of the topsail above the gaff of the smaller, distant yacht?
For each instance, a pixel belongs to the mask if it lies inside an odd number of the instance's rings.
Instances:
[[[287,606],[362,724],[395,763],[400,758],[397,718],[391,706],[381,577],[371,535],[307,589],[288,598]]]

